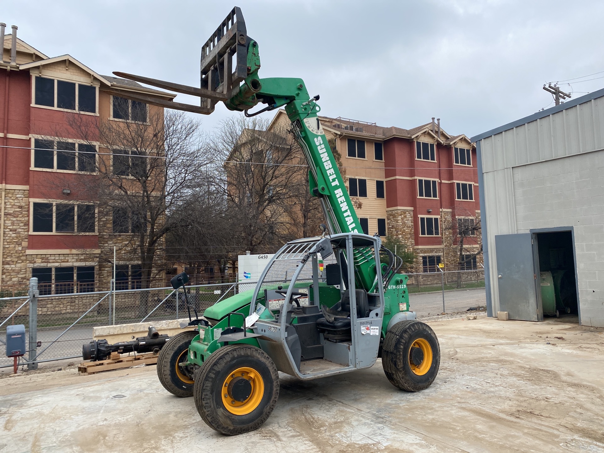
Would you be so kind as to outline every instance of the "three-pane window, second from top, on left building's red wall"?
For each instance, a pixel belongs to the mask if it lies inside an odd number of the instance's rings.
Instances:
[[[97,147],[70,141],[34,140],[34,165],[36,169],[70,170],[72,172],[96,171]]]

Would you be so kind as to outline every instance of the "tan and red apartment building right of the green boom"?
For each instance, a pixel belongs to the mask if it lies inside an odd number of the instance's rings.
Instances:
[[[434,119],[402,129],[320,117],[365,233],[413,247],[420,272],[434,272],[440,263],[476,269],[482,260],[471,256],[481,243],[476,149],[466,135],[450,135]],[[271,127],[287,123],[280,110]]]

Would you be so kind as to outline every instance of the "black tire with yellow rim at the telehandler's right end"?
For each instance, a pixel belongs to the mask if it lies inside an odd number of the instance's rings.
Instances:
[[[416,349],[420,352],[415,352]],[[382,367],[388,381],[401,390],[420,391],[430,387],[440,367],[439,340],[434,330],[419,321],[394,324],[384,339]]]

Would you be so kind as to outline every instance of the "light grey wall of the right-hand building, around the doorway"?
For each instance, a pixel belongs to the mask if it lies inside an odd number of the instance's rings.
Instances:
[[[604,327],[604,97],[483,138],[493,312],[495,236],[573,226],[582,324]]]

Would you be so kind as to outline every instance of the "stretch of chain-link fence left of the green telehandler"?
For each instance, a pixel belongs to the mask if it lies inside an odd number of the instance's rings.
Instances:
[[[39,362],[80,358],[82,344],[92,340],[92,327],[188,318],[182,289],[39,295],[34,286],[30,284],[27,297],[0,298],[0,368],[13,366],[13,358],[5,357],[3,350],[11,324],[24,324],[28,352],[19,362],[35,369]],[[217,301],[254,286],[249,281],[187,286],[191,316],[194,310],[201,315]]]

